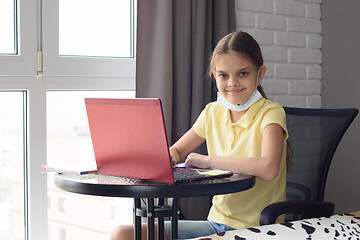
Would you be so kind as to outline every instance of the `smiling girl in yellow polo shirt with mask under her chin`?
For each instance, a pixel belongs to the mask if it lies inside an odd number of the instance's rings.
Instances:
[[[179,221],[179,239],[258,226],[267,205],[286,199],[286,118],[281,105],[264,95],[260,83],[265,72],[260,47],[249,34],[230,33],[216,46],[209,73],[218,99],[170,147],[172,162],[187,156],[187,167],[254,175],[256,183],[247,191],[214,196],[206,221]],[[191,153],[204,141],[208,155]],[[165,222],[167,233],[170,227]],[[117,229],[114,239],[130,239],[125,235],[129,230]],[[125,238],[115,238],[121,235]]]

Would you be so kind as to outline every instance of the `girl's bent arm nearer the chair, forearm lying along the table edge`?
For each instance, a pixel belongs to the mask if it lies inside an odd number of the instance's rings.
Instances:
[[[263,132],[261,157],[210,157],[191,153],[186,159],[185,166],[228,170],[254,175],[262,180],[272,180],[279,172],[283,144],[283,128],[278,124],[269,124]]]

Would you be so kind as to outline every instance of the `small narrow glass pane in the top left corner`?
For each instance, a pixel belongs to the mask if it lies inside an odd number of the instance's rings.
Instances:
[[[0,0],[0,54],[15,54],[15,0]]]

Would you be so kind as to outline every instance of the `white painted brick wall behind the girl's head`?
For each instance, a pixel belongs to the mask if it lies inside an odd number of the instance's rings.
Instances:
[[[268,97],[285,106],[321,107],[320,0],[236,0],[237,30],[260,44]]]

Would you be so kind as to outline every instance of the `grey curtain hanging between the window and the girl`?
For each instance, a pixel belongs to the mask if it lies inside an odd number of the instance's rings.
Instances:
[[[207,76],[209,59],[216,43],[236,30],[235,2],[138,0],[137,5],[136,96],[162,100],[173,144],[214,99],[215,88]],[[196,204],[211,203],[208,198],[182,199],[187,218],[206,216],[207,209],[199,213]]]

